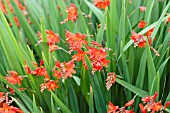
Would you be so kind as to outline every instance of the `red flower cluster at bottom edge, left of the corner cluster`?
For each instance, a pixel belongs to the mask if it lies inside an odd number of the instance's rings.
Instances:
[[[127,102],[123,107],[115,106],[111,102],[108,104],[107,113],[134,113],[134,109],[126,110],[127,107],[133,106],[134,99]]]

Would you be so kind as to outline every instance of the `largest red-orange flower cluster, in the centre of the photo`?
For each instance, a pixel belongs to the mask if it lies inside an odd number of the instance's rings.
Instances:
[[[110,63],[109,60],[107,60],[107,52],[106,49],[104,49],[100,44],[98,44],[95,41],[91,42],[92,46],[87,46],[88,42],[85,40],[86,35],[76,33],[73,34],[69,31],[66,31],[66,41],[70,45],[71,51],[76,51],[77,54],[73,55],[73,60],[75,61],[81,61],[83,62],[83,65],[86,69],[87,64],[85,61],[85,55],[87,55],[91,61],[92,64],[92,73],[94,74],[95,71],[102,70],[103,66],[108,67],[108,64]],[[86,48],[86,51],[83,51],[83,48]]]

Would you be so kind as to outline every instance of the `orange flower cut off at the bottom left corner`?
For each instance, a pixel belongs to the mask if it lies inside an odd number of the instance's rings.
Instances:
[[[0,108],[0,113],[24,113],[17,107],[9,106],[6,103],[3,103],[2,108]]]

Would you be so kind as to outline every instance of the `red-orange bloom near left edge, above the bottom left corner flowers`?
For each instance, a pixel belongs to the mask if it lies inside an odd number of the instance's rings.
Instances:
[[[23,80],[23,77],[22,76],[19,76],[17,72],[15,71],[9,71],[8,72],[10,75],[9,76],[6,76],[6,80],[15,85],[15,84],[18,84],[18,85],[21,85],[21,81]]]

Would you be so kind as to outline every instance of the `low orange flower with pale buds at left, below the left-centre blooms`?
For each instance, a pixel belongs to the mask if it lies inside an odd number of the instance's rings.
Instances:
[[[59,85],[57,84],[57,81],[49,80],[46,83],[43,83],[40,85],[41,87],[41,92],[43,92],[45,89],[48,89],[48,91],[59,88]]]

